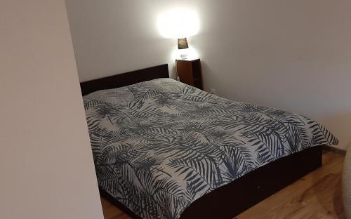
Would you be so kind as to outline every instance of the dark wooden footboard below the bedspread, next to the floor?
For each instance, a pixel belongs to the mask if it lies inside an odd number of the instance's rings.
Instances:
[[[322,166],[322,146],[266,164],[194,201],[181,218],[234,218]]]

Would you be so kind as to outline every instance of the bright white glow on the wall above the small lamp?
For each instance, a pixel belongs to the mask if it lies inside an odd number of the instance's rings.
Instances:
[[[189,9],[174,9],[159,15],[158,26],[162,36],[182,39],[199,32],[199,18]]]

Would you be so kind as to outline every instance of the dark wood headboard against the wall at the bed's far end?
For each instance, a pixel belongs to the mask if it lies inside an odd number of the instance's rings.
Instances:
[[[94,91],[119,88],[121,86],[128,86],[142,81],[168,77],[168,64],[157,65],[133,72],[115,74],[110,77],[81,82],[81,94],[87,95]]]

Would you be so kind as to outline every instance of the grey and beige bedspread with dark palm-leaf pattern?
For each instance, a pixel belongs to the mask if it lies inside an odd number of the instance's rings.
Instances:
[[[84,96],[98,184],[141,218],[179,218],[271,161],[338,140],[317,122],[173,79]]]

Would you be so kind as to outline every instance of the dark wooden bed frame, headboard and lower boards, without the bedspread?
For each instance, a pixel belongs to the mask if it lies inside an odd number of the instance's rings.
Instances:
[[[168,65],[158,65],[82,82],[81,93],[86,95],[103,89],[168,77]],[[322,166],[322,146],[291,154],[197,199],[185,209],[180,218],[234,218],[320,166]],[[100,190],[100,194],[132,218],[140,218],[104,190]]]

